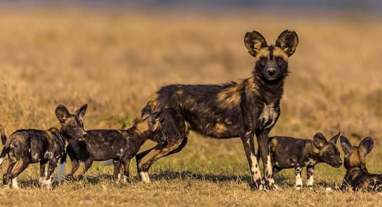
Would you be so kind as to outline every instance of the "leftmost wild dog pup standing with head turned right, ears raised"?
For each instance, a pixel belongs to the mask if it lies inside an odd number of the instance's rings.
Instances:
[[[81,139],[86,136],[83,128],[82,117],[85,115],[87,104],[81,106],[74,114],[70,114],[68,109],[57,106],[55,113],[59,124],[48,129],[20,129],[13,132],[7,139],[3,127],[2,141],[4,142],[3,152],[0,155],[0,165],[8,155],[8,166],[3,176],[4,186],[8,187],[12,180],[12,186],[19,188],[17,177],[29,164],[40,163],[40,186],[50,189],[52,185],[52,173],[57,166],[58,159],[65,152],[68,137]],[[46,164],[49,162],[48,170]]]

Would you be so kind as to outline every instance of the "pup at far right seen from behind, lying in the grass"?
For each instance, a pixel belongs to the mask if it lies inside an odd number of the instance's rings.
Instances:
[[[350,187],[352,190],[381,190],[382,175],[371,174],[366,169],[366,155],[374,147],[373,139],[368,136],[358,146],[352,146],[345,136],[340,137],[344,156],[345,177],[340,189]]]

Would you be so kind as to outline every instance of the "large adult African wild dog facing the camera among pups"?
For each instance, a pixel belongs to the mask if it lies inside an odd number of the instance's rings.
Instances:
[[[273,182],[272,159],[268,133],[280,115],[280,99],[285,77],[288,76],[288,58],[299,43],[296,32],[285,30],[275,45],[268,46],[264,37],[247,32],[244,44],[255,58],[252,76],[240,83],[223,85],[169,85],[162,87],[148,100],[154,111],[172,108],[180,120],[180,133],[165,143],[136,156],[138,172],[149,182],[148,170],[157,159],[178,152],[185,146],[189,130],[216,139],[240,137],[249,163],[252,186],[257,189],[276,187]],[[253,136],[256,135],[263,160],[264,180],[256,161]]]

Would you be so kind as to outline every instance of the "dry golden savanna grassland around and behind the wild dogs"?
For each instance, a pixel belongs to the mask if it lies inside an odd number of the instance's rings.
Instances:
[[[329,138],[341,130],[354,145],[370,135],[367,167],[382,173],[382,27],[363,16],[1,9],[0,122],[8,135],[46,129],[58,122],[58,104],[74,111],[88,103],[87,129],[126,128],[163,85],[250,77],[245,32],[257,30],[271,44],[284,29],[295,30],[300,45],[270,135],[311,139],[321,131]],[[191,134],[180,153],[153,165],[151,184],[136,178],[134,160],[130,170],[131,183],[114,184],[112,166],[95,163],[85,180],[42,191],[39,165],[32,165],[19,178],[21,190],[0,189],[0,205],[382,205],[378,193],[325,192],[345,173],[325,164],[315,170],[315,190],[296,191],[293,170],[284,170],[275,177],[280,191],[252,191],[239,139]]]

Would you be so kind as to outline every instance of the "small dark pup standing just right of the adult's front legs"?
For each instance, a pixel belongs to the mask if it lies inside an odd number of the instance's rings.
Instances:
[[[339,168],[342,165],[340,152],[336,147],[341,132],[333,136],[329,142],[318,132],[313,140],[296,139],[288,136],[273,136],[269,138],[269,147],[273,159],[273,174],[282,169],[295,168],[296,189],[303,187],[301,171],[307,168],[307,186],[313,189],[314,167],[318,163],[327,163]],[[257,156],[259,159],[259,156]]]

